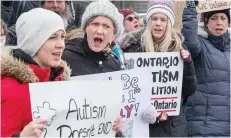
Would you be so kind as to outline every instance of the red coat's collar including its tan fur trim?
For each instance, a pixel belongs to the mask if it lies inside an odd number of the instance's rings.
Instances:
[[[42,69],[33,64],[15,58],[11,54],[11,47],[1,47],[1,76],[10,76],[21,83],[49,81],[51,69]],[[66,62],[61,61],[63,71],[55,80],[69,80],[71,70]]]

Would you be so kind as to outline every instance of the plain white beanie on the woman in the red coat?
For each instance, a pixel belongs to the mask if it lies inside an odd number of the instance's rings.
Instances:
[[[19,16],[16,21],[17,46],[33,57],[49,37],[64,29],[62,18],[55,12],[35,8]]]

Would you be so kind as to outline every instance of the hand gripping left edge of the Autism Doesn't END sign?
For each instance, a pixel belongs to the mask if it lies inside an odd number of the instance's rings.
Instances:
[[[30,122],[24,127],[20,133],[20,137],[40,137],[44,131],[45,123],[47,123],[46,119],[38,119]]]

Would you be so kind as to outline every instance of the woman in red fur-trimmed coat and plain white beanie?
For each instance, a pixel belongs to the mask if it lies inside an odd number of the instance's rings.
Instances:
[[[61,60],[64,23],[35,8],[18,18],[16,33],[17,47],[1,47],[1,137],[40,137],[47,120],[32,121],[28,84],[69,80],[70,68]]]

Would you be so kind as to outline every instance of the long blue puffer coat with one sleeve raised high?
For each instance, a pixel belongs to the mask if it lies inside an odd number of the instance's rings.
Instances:
[[[193,8],[183,12],[182,33],[192,54],[197,91],[188,100],[189,136],[230,136],[230,31],[216,37],[199,27]]]

